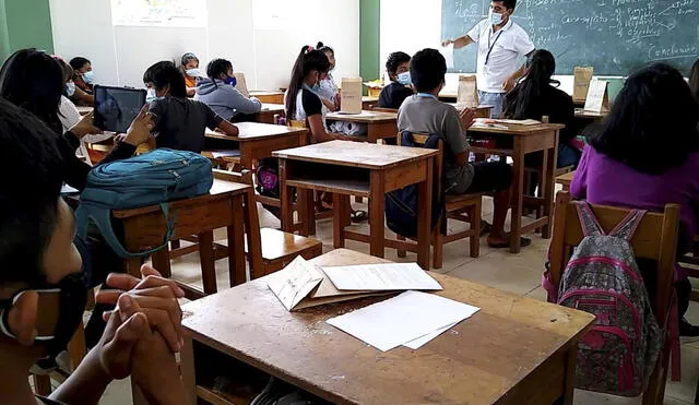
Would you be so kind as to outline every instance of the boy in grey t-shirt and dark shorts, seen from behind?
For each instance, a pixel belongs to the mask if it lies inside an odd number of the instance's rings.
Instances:
[[[398,111],[399,132],[438,134],[445,142],[443,188],[453,194],[494,192],[493,228],[487,241],[494,248],[508,248],[505,219],[510,205],[512,169],[499,162],[469,163],[466,129],[473,124],[474,112],[459,112],[439,100],[445,87],[447,61],[436,49],[423,49],[411,62],[413,85],[418,92],[403,102]],[[522,247],[531,240],[522,238]]]

